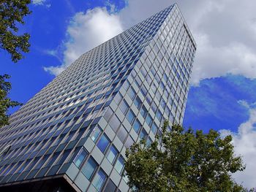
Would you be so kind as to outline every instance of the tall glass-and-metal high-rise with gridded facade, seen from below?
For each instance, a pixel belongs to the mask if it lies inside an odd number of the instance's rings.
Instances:
[[[0,129],[0,191],[128,191],[125,150],[182,123],[195,50],[174,4],[81,55]]]

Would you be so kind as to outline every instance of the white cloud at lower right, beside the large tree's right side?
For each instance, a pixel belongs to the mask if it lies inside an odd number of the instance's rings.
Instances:
[[[236,172],[233,178],[246,188],[253,188],[256,186],[256,104],[249,105],[246,101],[241,101],[241,104],[248,108],[249,120],[238,127],[237,133],[227,129],[221,130],[220,133],[222,137],[232,135],[235,153],[241,155],[246,164],[244,172]]]

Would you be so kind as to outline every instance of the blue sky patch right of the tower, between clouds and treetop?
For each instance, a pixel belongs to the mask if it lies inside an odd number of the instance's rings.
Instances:
[[[189,89],[183,125],[208,131],[228,128],[237,131],[249,118],[246,107],[238,100],[254,102],[256,80],[241,75],[228,74],[201,80],[199,86]]]

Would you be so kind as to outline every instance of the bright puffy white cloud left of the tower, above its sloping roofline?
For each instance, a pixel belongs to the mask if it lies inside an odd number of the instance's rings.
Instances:
[[[45,71],[58,75],[80,55],[115,37],[121,31],[123,28],[120,19],[114,13],[109,13],[105,7],[90,9],[86,13],[76,13],[67,28],[63,64],[44,67]],[[56,52],[49,52],[50,55],[54,55],[53,53]]]

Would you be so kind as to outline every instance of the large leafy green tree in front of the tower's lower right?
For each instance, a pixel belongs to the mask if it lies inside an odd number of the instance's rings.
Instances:
[[[147,146],[143,140],[127,150],[128,185],[140,192],[246,191],[230,175],[245,169],[231,141],[214,130],[203,134],[178,125],[170,128],[165,121],[155,142]]]

